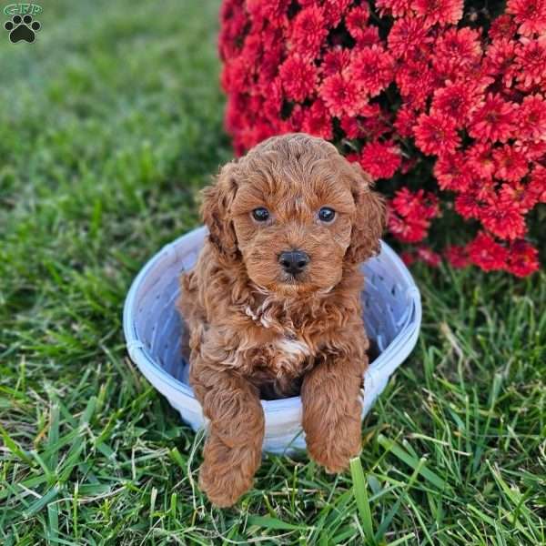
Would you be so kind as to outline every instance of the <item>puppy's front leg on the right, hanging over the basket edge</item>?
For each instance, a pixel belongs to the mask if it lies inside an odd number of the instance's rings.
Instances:
[[[360,386],[368,359],[330,356],[303,379],[303,429],[312,459],[329,472],[340,472],[361,446]]]

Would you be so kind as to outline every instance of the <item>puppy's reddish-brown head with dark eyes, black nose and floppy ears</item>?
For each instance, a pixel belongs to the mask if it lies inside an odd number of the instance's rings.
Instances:
[[[332,288],[379,249],[385,207],[338,150],[304,134],[273,136],[220,171],[204,192],[210,241],[281,294]]]

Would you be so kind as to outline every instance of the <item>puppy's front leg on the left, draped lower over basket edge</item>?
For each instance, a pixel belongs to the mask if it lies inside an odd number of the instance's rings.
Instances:
[[[231,506],[252,487],[261,462],[264,413],[258,389],[201,355],[190,382],[210,420],[199,486],[219,507]]]

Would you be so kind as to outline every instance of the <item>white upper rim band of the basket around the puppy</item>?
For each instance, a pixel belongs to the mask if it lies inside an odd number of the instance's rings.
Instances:
[[[123,330],[126,339],[126,349],[129,357],[136,364],[141,373],[159,390],[164,396],[169,398],[166,390],[175,390],[177,395],[185,399],[188,407],[193,406],[195,409],[200,408],[200,405],[193,393],[193,390],[186,384],[170,375],[165,369],[157,364],[157,361],[152,358],[150,351],[141,341],[136,333],[136,325],[133,319],[134,310],[136,308],[136,294],[147,278],[149,271],[163,259],[172,259],[177,256],[177,246],[188,238],[201,240],[207,236],[207,227],[197,227],[186,234],[176,238],[174,241],[167,243],[163,248],[160,248],[156,254],[149,258],[143,268],[140,269],[136,278],[133,279],[131,286],[127,292],[126,300],[123,308]],[[412,278],[409,269],[404,262],[399,258],[398,254],[389,247],[389,245],[380,240],[380,253],[389,258],[392,266],[397,269],[397,277],[401,277],[406,284],[406,298],[410,312],[406,314],[406,318],[399,329],[397,336],[392,339],[389,345],[381,352],[379,357],[375,359],[367,369],[366,376],[375,375],[379,370],[385,369],[390,374],[394,369],[398,368],[399,363],[408,358],[410,352],[415,347],[420,332],[420,323],[422,319],[422,308],[420,301],[420,290]],[[300,397],[290,397],[286,399],[261,400],[265,411],[278,412],[285,410],[294,410],[301,405]]]

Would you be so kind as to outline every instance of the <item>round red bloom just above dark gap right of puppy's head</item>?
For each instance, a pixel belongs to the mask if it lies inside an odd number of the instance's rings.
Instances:
[[[413,129],[415,143],[427,155],[452,154],[460,145],[455,121],[440,114],[421,114]]]

